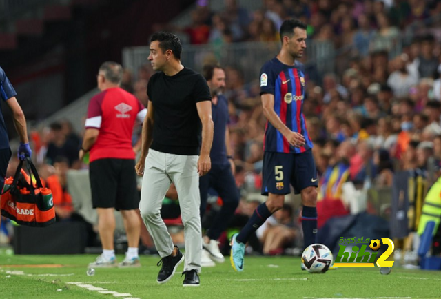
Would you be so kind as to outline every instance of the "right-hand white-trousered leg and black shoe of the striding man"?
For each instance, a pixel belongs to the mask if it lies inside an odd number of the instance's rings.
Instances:
[[[201,272],[202,254],[198,156],[169,156],[171,162],[167,166],[167,173],[178,191],[181,218],[184,224],[185,280],[183,285],[197,286],[199,285],[198,273]]]

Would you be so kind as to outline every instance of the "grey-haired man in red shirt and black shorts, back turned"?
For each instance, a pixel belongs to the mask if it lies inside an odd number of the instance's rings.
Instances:
[[[85,121],[82,160],[90,151],[92,204],[98,212],[98,230],[103,254],[90,267],[116,267],[114,252],[114,209],[121,211],[129,248],[119,267],[139,267],[138,243],[141,222],[136,209],[135,153],[132,132],[135,120],[143,122],[147,109],[134,95],[119,87],[123,68],[107,61],[99,68],[96,81],[101,93],[90,99]]]

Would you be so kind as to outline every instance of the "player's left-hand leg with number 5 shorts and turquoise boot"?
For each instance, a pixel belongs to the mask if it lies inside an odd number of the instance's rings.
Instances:
[[[289,179],[291,177],[294,155],[287,153],[265,152],[263,155],[263,184],[262,195],[268,195],[268,200],[260,204],[240,233],[232,237],[232,254],[230,260],[236,271],[243,271],[245,243],[275,211],[282,209],[285,195],[290,193]]]

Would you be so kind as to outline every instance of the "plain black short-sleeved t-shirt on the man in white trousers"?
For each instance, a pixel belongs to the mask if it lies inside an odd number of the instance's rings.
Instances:
[[[147,95],[154,107],[150,148],[175,155],[199,155],[202,125],[196,103],[212,99],[202,75],[189,68],[173,76],[156,73],[149,80]]]

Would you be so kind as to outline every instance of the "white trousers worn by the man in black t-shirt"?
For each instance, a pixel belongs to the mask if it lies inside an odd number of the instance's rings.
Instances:
[[[201,197],[197,166],[198,155],[174,155],[150,149],[145,159],[139,211],[161,258],[172,254],[174,244],[161,218],[161,206],[173,182],[178,191],[184,224],[184,271],[201,272]]]

